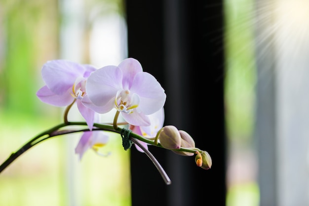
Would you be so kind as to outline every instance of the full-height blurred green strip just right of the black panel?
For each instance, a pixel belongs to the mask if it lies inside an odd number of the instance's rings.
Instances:
[[[258,206],[255,168],[245,158],[253,151],[255,124],[255,8],[254,0],[225,0],[225,105],[228,137],[227,206]],[[254,152],[251,152],[254,153]],[[253,160],[253,158],[252,158]],[[235,165],[233,165],[235,164]],[[250,166],[254,165],[250,164]],[[250,173],[251,172],[251,173]],[[250,173],[249,177],[243,174]]]

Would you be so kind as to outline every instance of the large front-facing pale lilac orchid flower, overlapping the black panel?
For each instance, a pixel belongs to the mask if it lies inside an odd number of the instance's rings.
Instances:
[[[97,106],[88,105],[94,111],[107,113],[116,108],[128,124],[135,126],[150,126],[148,115],[160,110],[166,100],[159,82],[133,58],[92,72],[86,93]]]

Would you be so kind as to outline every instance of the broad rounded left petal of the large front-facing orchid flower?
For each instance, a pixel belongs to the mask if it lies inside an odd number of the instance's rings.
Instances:
[[[97,106],[106,106],[110,111],[114,108],[115,96],[122,89],[122,72],[116,66],[106,66],[90,74],[86,82],[86,93],[91,102]]]

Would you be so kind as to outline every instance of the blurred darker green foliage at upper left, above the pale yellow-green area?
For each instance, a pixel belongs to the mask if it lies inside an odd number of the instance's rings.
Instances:
[[[1,1],[2,110],[40,114],[35,91],[40,67],[58,52],[56,11],[56,0]]]

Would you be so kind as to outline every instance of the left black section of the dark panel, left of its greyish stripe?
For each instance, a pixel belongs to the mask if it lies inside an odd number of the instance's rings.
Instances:
[[[128,56],[141,63],[164,88],[162,1],[127,0]],[[166,152],[150,151],[164,167]],[[165,167],[164,167],[165,168]],[[131,149],[132,206],[166,205],[167,186],[146,154]]]

